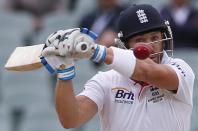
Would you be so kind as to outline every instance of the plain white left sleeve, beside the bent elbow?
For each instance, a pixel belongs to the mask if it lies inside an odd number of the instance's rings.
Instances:
[[[84,86],[84,90],[78,95],[84,95],[94,101],[98,106],[98,111],[100,112],[103,108],[104,98],[105,98],[105,87],[106,80],[104,80],[104,73],[98,73]]]

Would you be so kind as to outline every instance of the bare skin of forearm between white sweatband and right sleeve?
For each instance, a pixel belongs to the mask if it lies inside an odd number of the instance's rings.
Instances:
[[[177,90],[179,84],[173,69],[163,64],[157,64],[151,59],[137,60],[132,78],[167,90]]]

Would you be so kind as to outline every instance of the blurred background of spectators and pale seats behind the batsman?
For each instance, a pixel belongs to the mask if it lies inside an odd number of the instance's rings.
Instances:
[[[76,129],[64,129],[54,108],[55,76],[44,68],[10,72],[4,64],[16,46],[44,43],[59,29],[87,27],[99,34],[99,43],[114,46],[116,19],[131,4],[149,3],[170,21],[174,57],[184,59],[198,75],[197,0],[0,0],[0,131],[99,131],[96,115]],[[75,93],[105,65],[76,62]],[[190,131],[197,131],[198,78],[194,86]]]

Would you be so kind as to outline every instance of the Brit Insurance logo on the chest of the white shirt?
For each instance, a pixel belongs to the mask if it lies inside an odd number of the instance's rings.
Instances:
[[[115,94],[114,103],[133,104],[134,93],[132,91],[129,91],[124,87],[115,87],[112,88],[112,91]]]

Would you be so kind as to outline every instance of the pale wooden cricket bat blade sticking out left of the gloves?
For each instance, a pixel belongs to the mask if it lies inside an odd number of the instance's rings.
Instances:
[[[16,47],[10,55],[5,68],[12,71],[31,71],[42,67],[40,56],[44,44]]]

